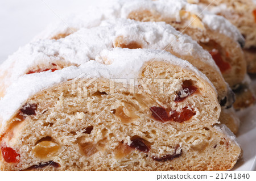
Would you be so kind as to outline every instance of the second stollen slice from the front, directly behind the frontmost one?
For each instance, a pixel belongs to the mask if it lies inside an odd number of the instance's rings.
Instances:
[[[81,28],[72,35],[58,40],[35,41],[20,49],[3,64],[0,69],[8,74],[2,79],[2,92],[20,75],[38,73],[40,71],[55,71],[70,65],[81,65],[90,58],[95,59],[102,49],[121,48],[151,48],[167,50],[175,56],[191,62],[202,71],[217,89],[218,100],[222,109],[232,107],[233,92],[224,81],[220,70],[210,54],[200,47],[191,37],[180,34],[170,25],[163,22],[136,22],[128,19],[115,19],[101,23],[95,28]],[[24,52],[30,52],[27,56]],[[19,53],[20,52],[20,53]],[[4,72],[4,71],[3,71]],[[19,73],[19,74],[18,74]],[[3,93],[4,94],[4,93]],[[226,110],[225,112],[228,112]],[[224,114],[221,114],[224,116]],[[221,120],[232,132],[239,127],[238,118],[229,117],[228,113]],[[222,123],[222,121],[221,121]]]

